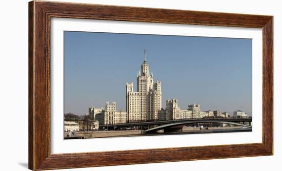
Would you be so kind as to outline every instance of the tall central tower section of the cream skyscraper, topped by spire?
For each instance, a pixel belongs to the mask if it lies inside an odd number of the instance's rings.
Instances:
[[[140,93],[140,120],[147,120],[147,95],[150,89],[153,89],[153,77],[149,74],[146,50],[144,49],[144,61],[141,72],[137,75],[137,91]]]

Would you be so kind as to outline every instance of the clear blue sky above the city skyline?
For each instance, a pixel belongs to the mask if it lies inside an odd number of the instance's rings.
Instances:
[[[89,106],[116,101],[125,110],[125,84],[134,82],[143,63],[143,50],[162,81],[166,99],[178,106],[199,103],[201,111],[252,113],[252,40],[237,38],[64,33],[65,113],[83,115]]]

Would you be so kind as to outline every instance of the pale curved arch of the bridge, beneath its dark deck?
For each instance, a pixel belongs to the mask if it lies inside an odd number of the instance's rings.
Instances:
[[[151,129],[145,130],[144,133],[155,133],[158,130],[166,130],[166,129],[173,127],[173,126],[192,124],[192,123],[226,123],[226,124],[233,124],[233,125],[246,126],[246,127],[252,128],[252,126],[250,126],[250,125],[236,123],[236,122],[229,122],[229,121],[225,121],[225,120],[199,119],[199,120],[188,120],[188,121],[182,121],[182,122],[174,122],[174,123],[156,126],[156,127],[151,128]]]

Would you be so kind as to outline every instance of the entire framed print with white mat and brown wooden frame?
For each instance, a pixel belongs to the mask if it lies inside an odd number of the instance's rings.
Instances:
[[[273,155],[273,16],[32,1],[29,168]]]

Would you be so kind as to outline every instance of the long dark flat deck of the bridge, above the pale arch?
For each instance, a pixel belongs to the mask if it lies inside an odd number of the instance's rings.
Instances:
[[[230,124],[243,123],[244,126],[245,126],[245,122],[251,123],[252,118],[177,119],[177,120],[165,120],[165,121],[129,122],[129,123],[108,124],[108,125],[99,125],[99,127],[107,127],[107,129],[118,129],[120,127],[133,127],[133,126],[153,127],[155,125],[166,125],[166,124],[172,124],[172,123],[182,123],[183,124],[183,122],[187,122],[187,124],[189,124],[189,123],[223,123],[223,122],[227,123],[227,122],[232,122]]]

